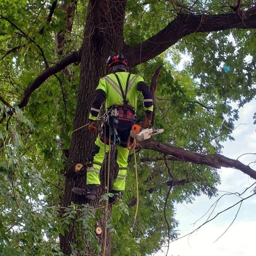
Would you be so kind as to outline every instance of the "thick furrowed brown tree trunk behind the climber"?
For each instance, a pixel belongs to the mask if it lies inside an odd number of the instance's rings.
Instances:
[[[121,53],[123,49],[123,23],[126,1],[99,1],[91,0],[87,9],[87,17],[84,31],[84,41],[81,49],[81,72],[77,96],[77,108],[74,122],[74,129],[88,123],[90,105],[94,97],[94,90],[101,77],[107,75],[106,59],[108,55]],[[112,11],[118,10],[118,12]],[[76,204],[89,203],[93,207],[99,205],[99,199],[106,193],[107,171],[103,168],[101,172],[101,186],[95,201],[87,202],[82,197],[74,196],[71,192],[73,187],[82,187],[86,184],[85,163],[90,157],[94,146],[96,134],[90,134],[84,128],[73,133],[71,140],[68,166],[66,168],[65,191],[63,206],[69,206],[71,202]],[[111,153],[111,155],[113,155]],[[106,158],[105,158],[106,159]],[[113,161],[113,159],[112,159]],[[78,173],[75,172],[75,164],[81,163],[84,167]],[[111,172],[113,179],[113,172]],[[111,214],[111,209],[110,214]],[[104,212],[104,211],[103,211]],[[103,232],[98,236],[98,241],[104,247],[104,216],[101,216],[99,225]],[[76,225],[69,226],[70,232],[65,231],[65,236],[60,235],[60,247],[64,254],[70,255],[70,244],[78,244],[76,238]],[[108,231],[107,231],[108,232]],[[103,249],[102,249],[103,250]],[[87,247],[87,254],[93,254],[90,247]],[[81,254],[79,254],[81,255]],[[107,234],[107,245],[105,256],[110,255],[110,235]]]

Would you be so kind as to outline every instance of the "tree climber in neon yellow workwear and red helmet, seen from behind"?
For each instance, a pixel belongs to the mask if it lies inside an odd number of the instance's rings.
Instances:
[[[72,191],[87,199],[94,200],[96,198],[97,188],[100,186],[100,169],[105,152],[109,150],[109,133],[111,130],[111,143],[117,144],[116,163],[118,168],[118,174],[111,191],[114,197],[110,198],[110,203],[114,203],[117,198],[121,198],[121,191],[125,187],[129,154],[127,140],[131,127],[135,122],[139,92],[142,92],[144,97],[145,119],[142,124],[143,128],[150,126],[153,100],[149,87],[143,81],[143,78],[128,73],[128,62],[123,54],[108,57],[107,65],[112,73],[101,78],[95,90],[94,101],[89,115],[89,130],[91,133],[97,130],[96,120],[104,100],[106,100],[108,113],[112,113],[108,115],[110,126],[105,124],[95,141],[90,162],[87,162],[86,188],[74,187]],[[113,116],[113,113],[116,113],[116,115]]]

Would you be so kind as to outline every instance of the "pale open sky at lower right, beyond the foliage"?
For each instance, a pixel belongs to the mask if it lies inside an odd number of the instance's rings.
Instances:
[[[235,123],[235,126],[238,127],[232,134],[235,141],[223,143],[224,156],[237,159],[245,153],[256,153],[256,126],[253,124],[252,118],[256,111],[255,106],[256,101],[252,101],[240,110],[240,119]],[[256,161],[256,155],[243,155],[239,158],[239,161],[247,165]],[[253,167],[254,164],[252,163],[250,166]],[[256,170],[256,165],[252,169]],[[252,178],[236,169],[222,168],[218,172],[222,180],[222,184],[218,186],[220,196],[225,194],[222,191],[241,193],[254,183]],[[247,190],[242,197],[251,195],[254,187],[255,185]],[[201,220],[199,219],[218,198],[215,197],[209,200],[207,196],[201,196],[197,197],[193,204],[177,204],[176,219],[180,222],[178,227],[179,237],[192,232],[203,224],[209,217],[210,212]],[[223,196],[219,200],[212,217],[240,200],[241,198],[236,195]],[[238,208],[239,204],[218,215],[217,218],[202,226],[192,235],[171,242],[168,256],[255,256],[256,195],[243,201],[239,212]],[[234,220],[236,214],[237,217]],[[199,221],[197,222],[197,220]],[[234,223],[225,232],[233,220]],[[195,222],[196,224],[194,224]],[[225,234],[221,236],[224,232]],[[215,240],[217,241],[214,242]],[[163,256],[165,254],[156,255]]]

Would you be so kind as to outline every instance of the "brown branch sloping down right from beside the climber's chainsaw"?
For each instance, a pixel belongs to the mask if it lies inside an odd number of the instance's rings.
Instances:
[[[192,162],[194,164],[208,165],[214,168],[220,167],[231,167],[238,169],[250,177],[256,179],[256,171],[250,168],[248,165],[242,164],[238,160],[227,158],[223,155],[212,154],[212,155],[203,155],[198,153],[193,153],[191,151],[175,148],[164,143],[160,143],[155,140],[137,142],[137,149],[151,149],[158,151],[166,155],[172,155],[176,158],[176,161]]]

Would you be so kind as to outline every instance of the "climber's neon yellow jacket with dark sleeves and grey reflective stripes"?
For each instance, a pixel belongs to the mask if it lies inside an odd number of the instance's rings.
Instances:
[[[124,94],[126,93],[126,100],[128,105],[132,106],[134,110],[137,110],[137,98],[139,92],[142,92],[144,97],[144,109],[146,112],[153,111],[153,100],[152,95],[149,90],[149,87],[143,81],[143,78],[139,75],[130,74],[127,92],[126,92],[126,83],[129,73],[127,72],[116,72],[115,73],[119,81]],[[100,79],[99,84],[95,91],[94,102],[91,106],[89,119],[96,120],[100,112],[101,105],[106,99],[106,108],[110,108],[113,105],[122,105],[123,96],[118,84],[115,74],[111,73]]]

